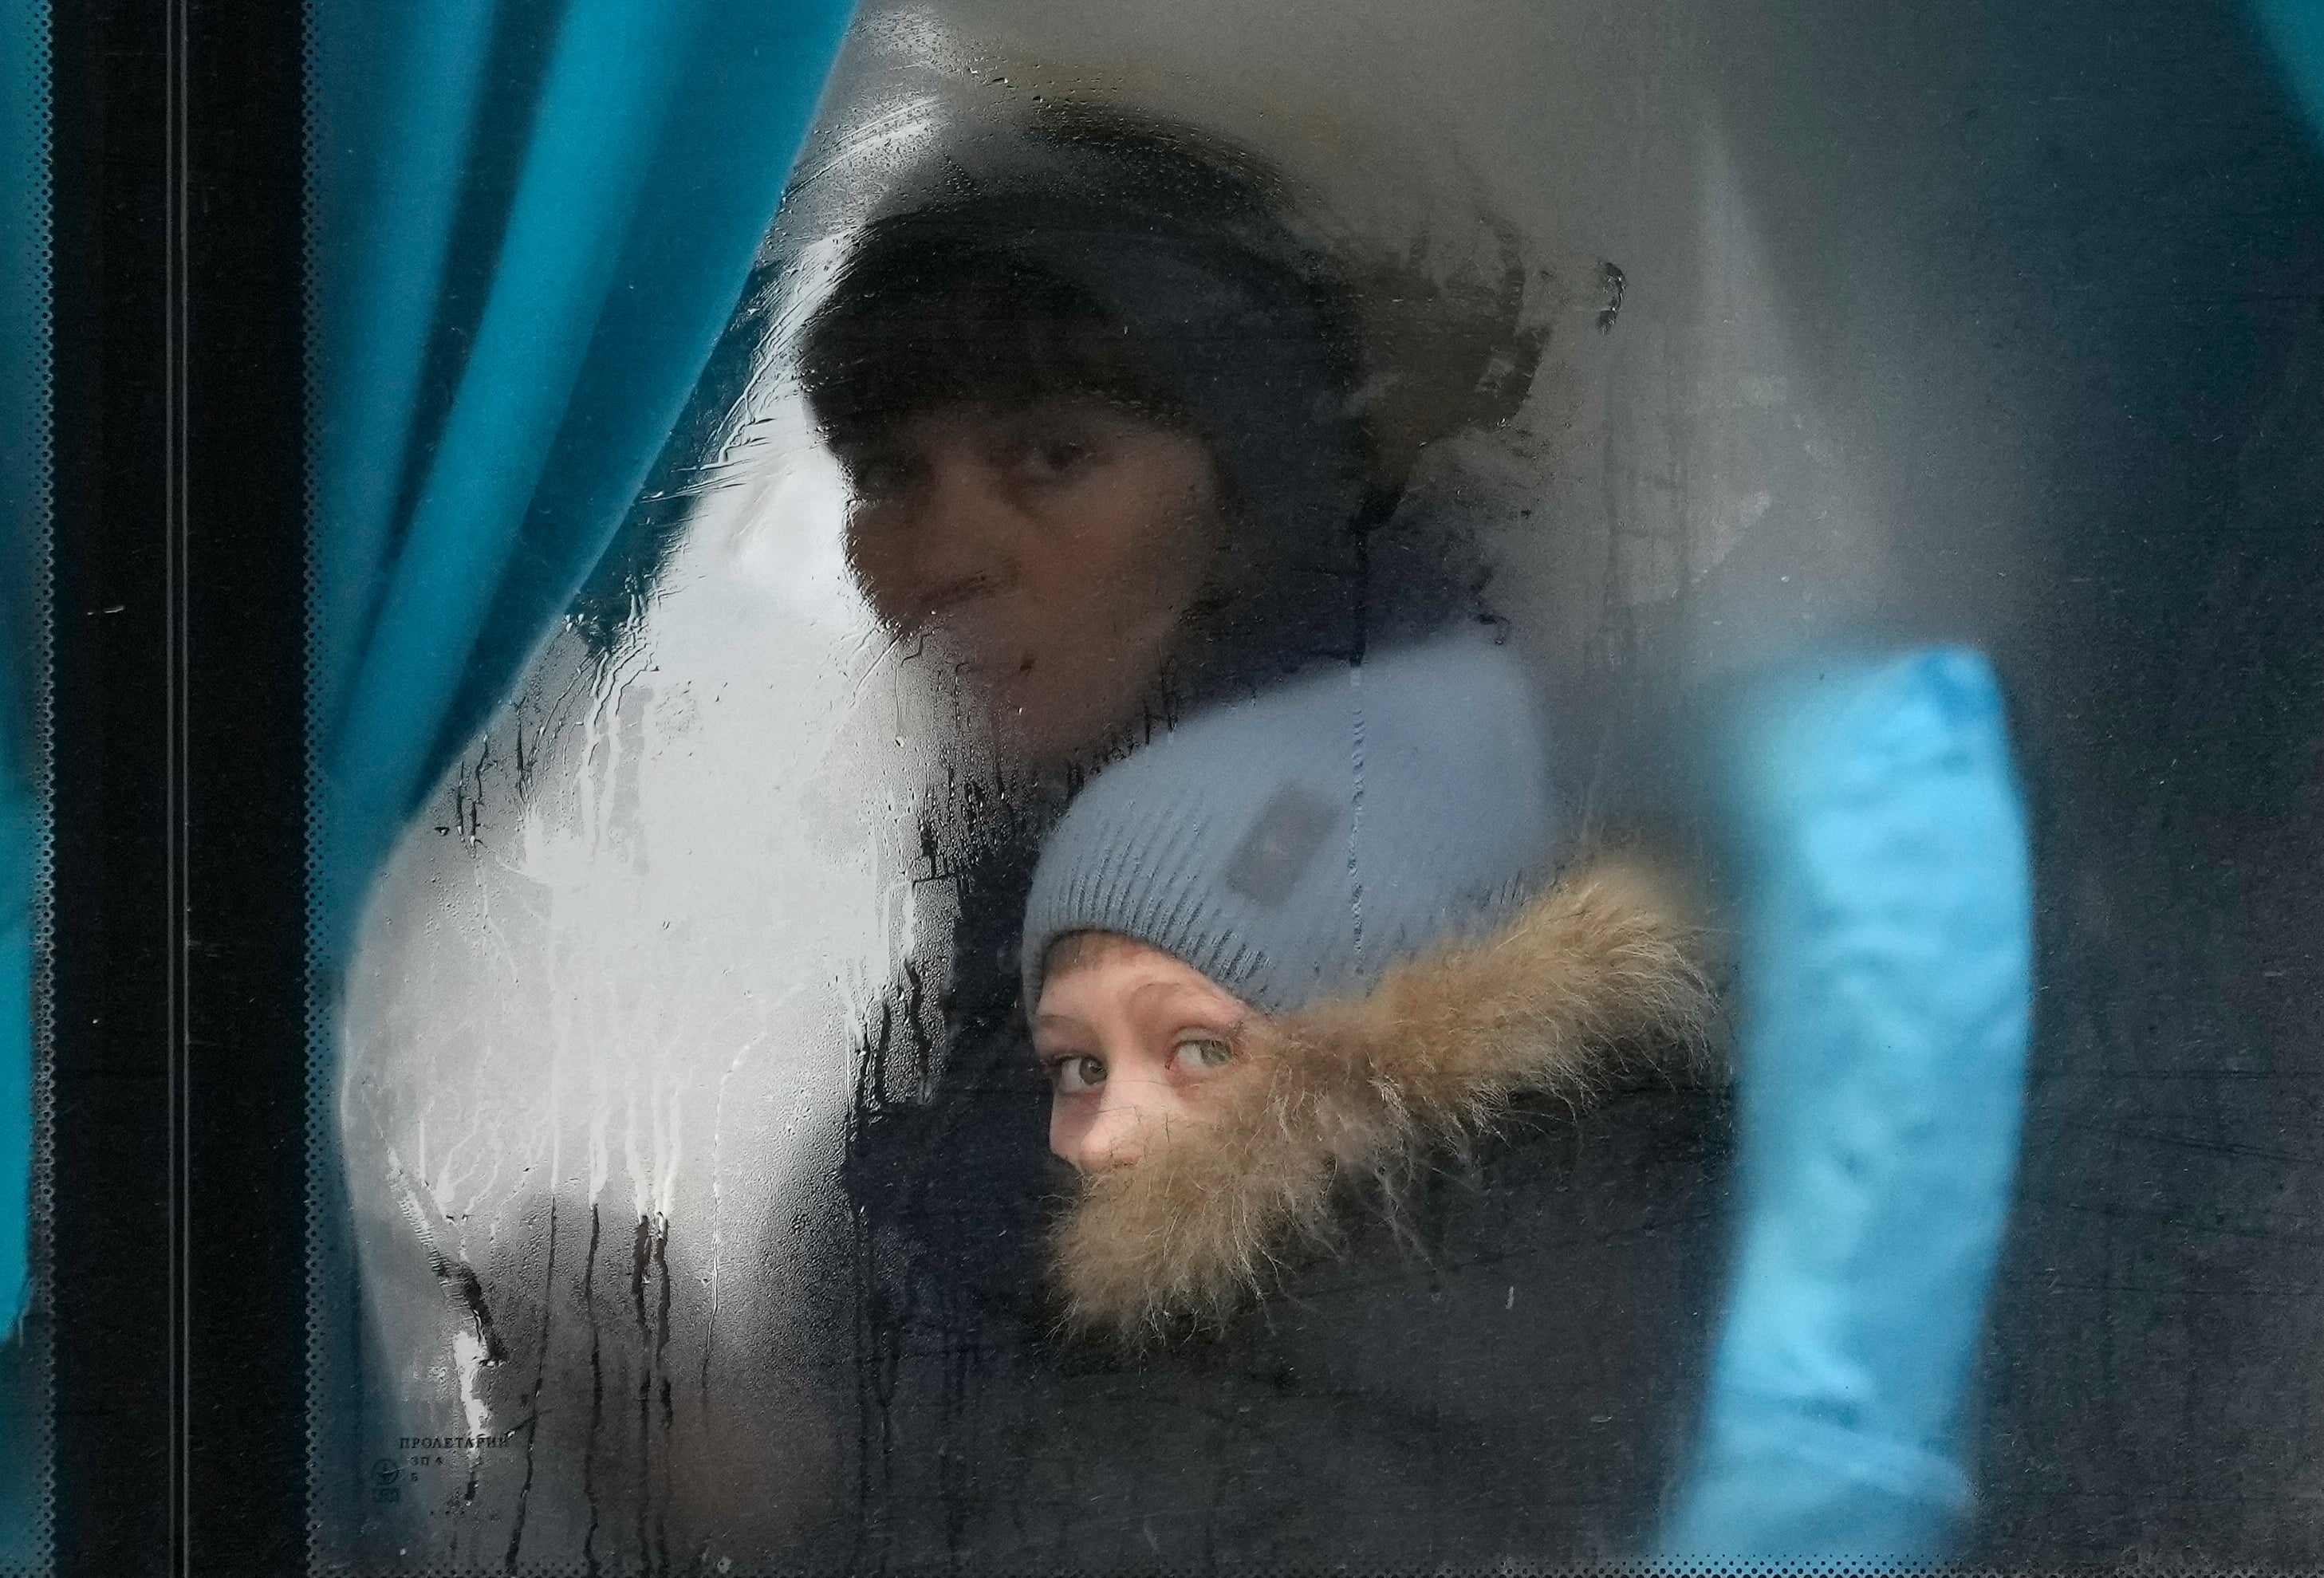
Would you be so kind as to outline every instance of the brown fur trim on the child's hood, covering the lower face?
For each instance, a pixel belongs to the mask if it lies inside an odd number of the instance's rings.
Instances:
[[[1050,1241],[1064,1322],[1132,1350],[1218,1327],[1329,1253],[1350,1195],[1392,1208],[1427,1157],[1518,1097],[1580,1104],[1627,1071],[1713,1071],[1713,1016],[1673,888],[1604,858],[1362,997],[1253,1020],[1236,1055],[1262,1083],[1246,1099],[1076,1181]]]

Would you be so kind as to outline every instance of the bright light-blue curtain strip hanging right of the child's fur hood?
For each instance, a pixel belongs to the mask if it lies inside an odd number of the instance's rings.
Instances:
[[[2008,1220],[2031,890],[1982,658],[1831,662],[1745,700],[1736,1269],[1671,1557],[1936,1562]]]

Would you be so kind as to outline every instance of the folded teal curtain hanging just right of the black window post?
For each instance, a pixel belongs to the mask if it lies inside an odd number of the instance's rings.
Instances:
[[[669,439],[846,19],[846,0],[311,7],[325,974]]]

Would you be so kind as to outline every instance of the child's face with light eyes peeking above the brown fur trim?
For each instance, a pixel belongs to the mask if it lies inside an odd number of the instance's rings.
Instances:
[[[1095,1174],[1136,1162],[1176,1125],[1215,1122],[1250,1083],[1255,1018],[1160,948],[1106,932],[1064,939],[1032,1018],[1050,1076],[1048,1148]]]

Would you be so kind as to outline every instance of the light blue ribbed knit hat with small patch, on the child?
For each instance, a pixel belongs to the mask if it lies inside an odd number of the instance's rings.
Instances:
[[[1327,665],[1099,772],[1041,851],[1025,1002],[1069,932],[1171,953],[1262,1013],[1369,990],[1555,860],[1550,760],[1483,630]]]

